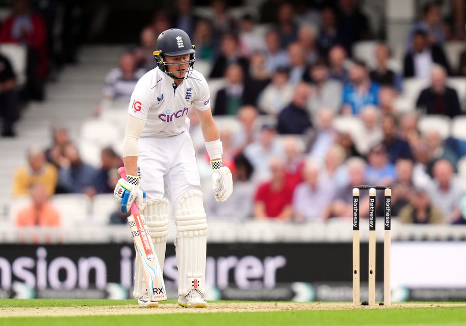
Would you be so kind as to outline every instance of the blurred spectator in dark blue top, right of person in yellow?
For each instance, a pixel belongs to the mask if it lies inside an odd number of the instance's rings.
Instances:
[[[85,194],[89,197],[96,194],[97,170],[81,160],[79,151],[74,144],[65,146],[65,156],[59,164],[57,192]]]

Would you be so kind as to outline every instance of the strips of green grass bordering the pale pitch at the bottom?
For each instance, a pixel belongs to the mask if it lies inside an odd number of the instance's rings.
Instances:
[[[174,303],[169,301],[168,303]],[[135,305],[135,300],[0,300],[0,307],[71,307]],[[0,316],[1,317],[1,316]],[[157,325],[464,325],[465,307],[392,308],[355,310],[306,310],[274,312],[218,312],[157,315],[109,315],[80,317],[12,317],[0,318],[8,326],[128,326]]]

